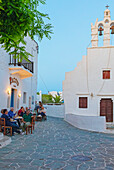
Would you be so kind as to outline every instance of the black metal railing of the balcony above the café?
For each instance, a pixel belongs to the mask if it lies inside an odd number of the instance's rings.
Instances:
[[[22,62],[19,62],[19,59],[14,59],[14,57],[12,55],[10,55],[10,63],[9,65],[13,65],[13,66],[23,66],[25,69],[29,70],[30,72],[34,72],[33,71],[33,62],[28,60],[26,61],[25,59],[22,60]]]

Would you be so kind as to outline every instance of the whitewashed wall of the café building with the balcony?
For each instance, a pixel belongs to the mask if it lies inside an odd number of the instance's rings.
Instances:
[[[8,89],[11,89],[9,77],[15,77],[19,81],[19,86],[16,87],[17,95],[21,93],[21,97],[19,98],[19,107],[29,106],[29,97],[32,98],[34,96],[34,104],[31,104],[31,109],[35,108],[36,101],[36,92],[37,92],[37,69],[38,69],[38,53],[36,49],[36,42],[31,40],[30,37],[25,38],[26,41],[26,50],[33,54],[35,57],[29,57],[31,61],[34,62],[34,74],[33,77],[21,79],[18,74],[10,75],[9,72],[9,61],[10,56],[7,54],[0,45],[0,109],[7,108],[7,100],[8,100]],[[27,93],[27,102],[23,104],[23,92]],[[9,95],[9,97],[11,97]],[[32,100],[31,100],[32,101]],[[17,101],[16,101],[17,102]],[[8,108],[9,109],[9,108]]]

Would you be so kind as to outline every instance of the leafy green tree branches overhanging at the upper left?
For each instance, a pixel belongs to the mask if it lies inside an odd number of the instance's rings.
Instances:
[[[44,22],[50,18],[38,10],[40,4],[45,0],[0,0],[0,44],[15,58],[27,59],[31,55],[25,51],[25,36],[34,39],[37,35],[40,41],[44,35],[51,38],[52,25]]]

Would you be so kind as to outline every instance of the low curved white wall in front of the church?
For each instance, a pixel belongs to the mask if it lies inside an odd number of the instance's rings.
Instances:
[[[104,132],[106,130],[106,120],[102,116],[80,116],[75,114],[66,114],[65,121],[71,125],[89,131]]]

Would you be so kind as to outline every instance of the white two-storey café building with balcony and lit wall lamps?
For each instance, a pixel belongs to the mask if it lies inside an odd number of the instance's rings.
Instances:
[[[0,45],[0,109],[21,106],[35,108],[37,93],[38,44],[25,37],[26,51],[34,57],[19,63]]]

